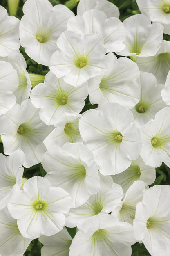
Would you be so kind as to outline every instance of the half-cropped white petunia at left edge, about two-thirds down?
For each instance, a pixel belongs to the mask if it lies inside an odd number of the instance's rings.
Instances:
[[[9,156],[0,154],[0,210],[2,210],[11,197],[22,185],[24,168],[24,153],[18,149]]]

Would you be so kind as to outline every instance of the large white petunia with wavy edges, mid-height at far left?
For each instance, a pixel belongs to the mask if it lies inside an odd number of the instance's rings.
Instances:
[[[39,163],[46,151],[43,140],[54,127],[46,126],[29,99],[16,104],[6,114],[0,116],[0,134],[4,144],[4,154],[9,155],[21,148],[25,153],[24,166],[29,168]]]

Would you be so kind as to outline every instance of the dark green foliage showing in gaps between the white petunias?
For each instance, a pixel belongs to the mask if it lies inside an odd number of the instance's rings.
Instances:
[[[65,4],[69,9],[72,9],[72,11],[76,15],[76,7],[78,5],[78,0],[69,0],[69,1],[49,0],[49,1],[51,2],[51,4],[53,6],[57,5],[57,4]],[[113,4],[115,4],[119,8],[119,11],[120,11],[119,18],[121,21],[124,21],[125,18],[128,18],[134,14],[140,14],[140,11],[136,4],[136,0],[109,0],[109,1],[112,2]],[[22,11],[23,4],[24,4],[24,2],[22,0],[20,0],[17,14],[16,14],[16,17],[19,19],[21,19],[22,16],[24,15],[23,11]],[[7,11],[9,12],[7,0],[0,0],[0,5],[5,7],[5,9],[7,9]],[[164,35],[163,39],[170,41],[170,36]],[[30,59],[29,56],[25,53],[25,50],[22,46],[20,47],[20,52],[25,57],[25,60],[27,62],[27,71],[29,73],[46,75],[46,73],[49,71],[49,68],[47,66],[38,64],[34,60]],[[116,55],[116,56],[119,57],[118,55]],[[96,104],[91,105],[89,103],[89,98],[87,97],[87,99],[85,100],[85,107],[83,108],[81,113],[85,112],[86,110],[88,110],[90,108],[96,108],[96,107],[97,107]],[[3,153],[2,143],[0,143],[0,153]],[[46,174],[46,172],[43,169],[41,163],[34,165],[31,168],[24,168],[24,177],[25,178],[31,178],[36,175],[44,177],[45,174]],[[152,185],[150,185],[150,187],[152,187],[153,185],[160,185],[160,184],[170,185],[170,168],[167,167],[164,163],[161,165],[161,167],[156,168],[156,176],[157,176],[156,180],[154,181],[154,183]],[[76,234],[76,228],[67,228],[67,231],[72,236],[72,238],[74,238],[74,235]],[[40,243],[40,241],[38,239],[32,240],[31,244],[25,251],[24,256],[40,256],[41,255],[40,250],[41,250],[42,246],[43,245]],[[143,243],[139,244],[137,242],[136,244],[132,245],[132,256],[150,256],[150,254],[145,249],[145,246],[143,245]]]

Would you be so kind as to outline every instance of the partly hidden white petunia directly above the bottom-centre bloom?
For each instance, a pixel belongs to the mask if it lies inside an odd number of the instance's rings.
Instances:
[[[97,214],[108,214],[120,203],[123,197],[121,186],[113,184],[111,188],[105,187],[78,208],[71,208],[66,214],[65,226],[81,229],[83,222]]]

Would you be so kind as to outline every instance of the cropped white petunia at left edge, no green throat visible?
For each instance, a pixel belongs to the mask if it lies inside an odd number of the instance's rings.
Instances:
[[[14,91],[18,87],[18,75],[13,66],[0,61],[0,115],[7,113],[16,103]]]

